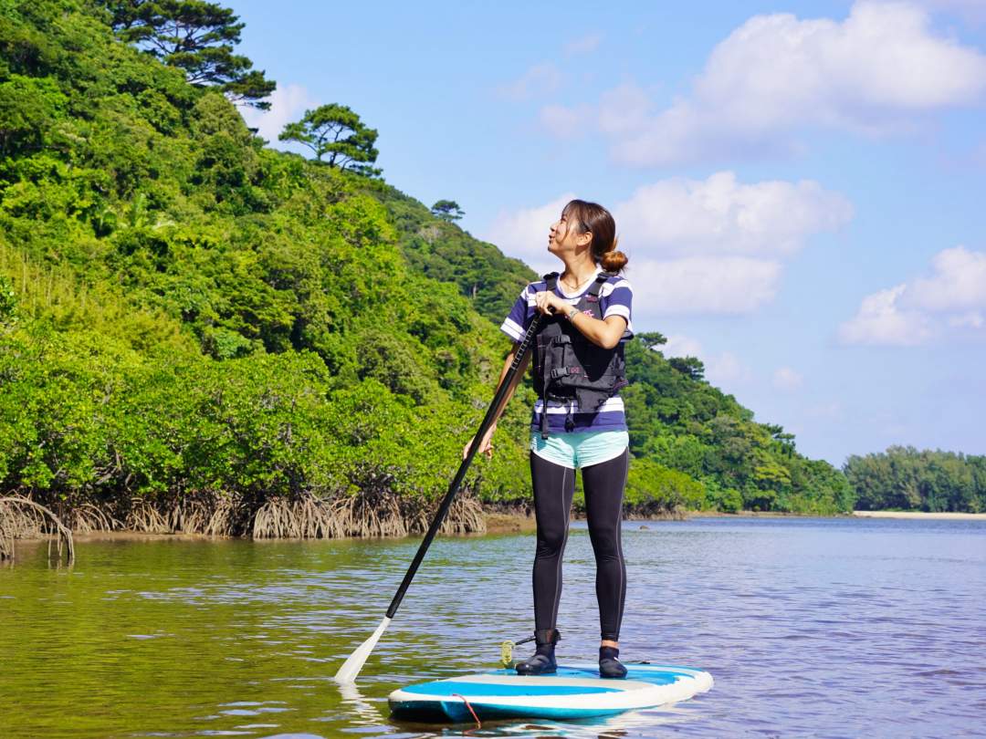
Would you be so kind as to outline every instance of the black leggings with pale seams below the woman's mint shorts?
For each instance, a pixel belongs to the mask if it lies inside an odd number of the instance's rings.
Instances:
[[[626,600],[626,566],[620,544],[623,489],[629,467],[626,449],[614,459],[582,468],[589,537],[596,553],[599,632],[619,639]],[[530,454],[530,479],[537,516],[534,554],[534,629],[554,629],[561,599],[561,560],[568,540],[568,517],[575,495],[575,470]]]

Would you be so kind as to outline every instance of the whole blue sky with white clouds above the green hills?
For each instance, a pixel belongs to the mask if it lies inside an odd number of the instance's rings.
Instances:
[[[801,452],[986,453],[986,1],[229,5],[272,146],[349,105],[390,184],[542,272],[599,202],[636,330]]]

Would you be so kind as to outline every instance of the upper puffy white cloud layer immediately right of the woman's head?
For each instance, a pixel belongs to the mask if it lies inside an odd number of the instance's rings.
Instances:
[[[644,185],[613,212],[621,234],[663,254],[791,254],[852,215],[848,200],[812,180],[742,184],[731,171]]]

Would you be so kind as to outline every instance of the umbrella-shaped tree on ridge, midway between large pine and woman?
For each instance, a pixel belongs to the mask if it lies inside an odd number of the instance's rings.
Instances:
[[[375,175],[381,172],[370,166],[380,154],[374,148],[377,135],[377,130],[368,128],[350,107],[332,102],[306,110],[300,121],[284,127],[278,139],[307,146],[318,162],[328,155],[324,164],[329,167]]]

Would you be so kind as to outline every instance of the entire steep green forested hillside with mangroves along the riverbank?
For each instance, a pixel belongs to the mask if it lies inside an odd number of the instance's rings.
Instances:
[[[0,158],[0,493],[80,528],[422,528],[492,396],[522,263],[265,148],[74,0],[0,0]],[[629,350],[629,504],[851,506],[659,338]],[[526,392],[451,529],[528,496]]]

